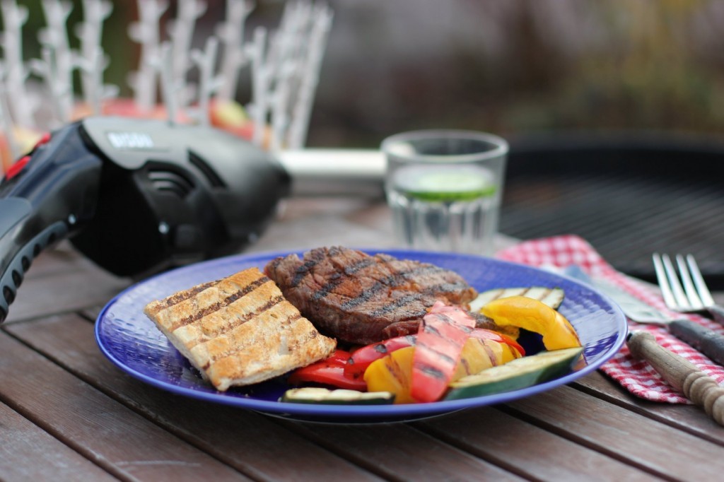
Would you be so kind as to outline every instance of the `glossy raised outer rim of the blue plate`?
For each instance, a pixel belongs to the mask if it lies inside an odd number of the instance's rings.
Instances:
[[[463,410],[467,408],[473,408],[473,407],[480,407],[485,405],[494,405],[497,403],[504,403],[504,402],[510,402],[514,399],[520,399],[523,397],[529,397],[534,394],[539,394],[542,392],[546,392],[549,389],[555,388],[557,386],[563,386],[566,384],[571,383],[572,381],[575,381],[576,379],[580,379],[589,373],[592,373],[593,371],[597,371],[598,368],[603,363],[606,363],[610,358],[612,358],[623,346],[624,342],[626,342],[626,334],[628,332],[628,324],[626,322],[626,316],[623,315],[623,312],[620,310],[618,305],[610,299],[607,295],[597,291],[594,287],[591,287],[589,284],[582,283],[576,279],[571,278],[570,276],[565,276],[564,274],[555,274],[550,273],[547,271],[544,271],[542,269],[539,269],[535,266],[529,266],[522,263],[515,263],[513,261],[506,261],[506,260],[500,260],[497,258],[491,258],[487,256],[481,256],[481,255],[471,255],[471,254],[463,254],[463,253],[445,253],[445,252],[437,252],[437,251],[428,251],[428,250],[405,250],[400,248],[350,248],[350,249],[358,249],[363,251],[364,253],[372,254],[372,253],[384,253],[393,255],[395,257],[401,258],[410,258],[415,260],[415,255],[421,255],[421,256],[434,256],[434,257],[444,257],[444,258],[475,258],[476,260],[485,262],[485,263],[494,263],[499,264],[502,266],[513,266],[515,269],[528,269],[532,271],[536,271],[539,273],[544,273],[547,276],[551,276],[553,278],[561,278],[565,279],[566,282],[571,282],[573,284],[578,284],[581,287],[586,288],[590,292],[594,292],[595,295],[597,295],[599,298],[607,302],[608,305],[610,305],[610,309],[613,311],[612,316],[615,318],[616,321],[616,330],[615,334],[617,334],[617,339],[615,339],[615,342],[611,344],[607,350],[605,350],[605,355],[603,355],[599,360],[594,361],[594,363],[586,364],[583,368],[581,368],[578,371],[568,373],[565,376],[559,377],[557,379],[553,379],[550,381],[546,381],[542,384],[536,384],[534,386],[529,386],[523,389],[517,389],[510,392],[499,392],[496,394],[488,394],[483,395],[480,397],[471,397],[466,399],[458,399],[458,400],[441,400],[438,402],[431,402],[431,403],[418,403],[418,404],[400,404],[400,405],[323,405],[323,404],[302,404],[302,403],[290,403],[290,402],[279,402],[279,401],[270,401],[270,400],[264,400],[264,399],[254,399],[251,397],[237,397],[237,396],[229,396],[227,394],[224,394],[224,392],[203,392],[199,391],[197,389],[193,388],[187,388],[184,386],[175,386],[172,384],[169,384],[165,381],[161,381],[159,379],[153,378],[152,376],[148,376],[145,373],[141,373],[140,371],[135,370],[134,368],[131,368],[130,366],[126,365],[122,362],[122,360],[119,360],[116,355],[112,352],[112,350],[109,350],[108,347],[104,344],[104,341],[102,340],[103,334],[101,334],[101,328],[104,324],[104,318],[106,313],[111,310],[113,305],[117,303],[119,300],[122,299],[122,297],[125,297],[129,292],[133,292],[136,289],[139,289],[139,287],[143,286],[144,284],[147,284],[149,282],[157,281],[159,278],[165,277],[165,276],[173,276],[174,274],[180,272],[180,271],[194,271],[195,269],[198,269],[198,267],[203,266],[205,269],[211,269],[218,266],[225,266],[229,263],[251,263],[255,261],[261,261],[261,260],[270,260],[273,258],[276,258],[277,256],[285,256],[292,253],[296,253],[298,255],[305,253],[308,251],[308,249],[300,249],[300,250],[274,250],[274,251],[268,251],[268,252],[258,252],[258,253],[239,253],[235,255],[228,255],[224,256],[222,258],[214,258],[211,260],[206,261],[200,261],[198,263],[189,264],[186,266],[180,266],[178,268],[164,271],[159,274],[155,274],[153,276],[148,276],[146,279],[140,280],[138,282],[135,282],[134,284],[130,285],[129,287],[123,289],[121,292],[119,292],[116,296],[114,296],[111,300],[109,300],[106,305],[104,305],[104,308],[98,313],[98,316],[96,317],[96,323],[94,324],[94,331],[95,331],[95,337],[96,337],[96,344],[98,345],[98,348],[101,350],[103,355],[111,361],[111,363],[114,363],[118,368],[120,368],[122,371],[127,373],[128,375],[134,377],[135,379],[139,379],[140,381],[145,382],[146,384],[149,384],[151,386],[155,386],[156,388],[163,389],[164,391],[171,392],[173,394],[182,395],[185,397],[195,398],[195,399],[201,399],[203,401],[208,402],[215,402],[222,405],[230,405],[235,407],[244,408],[247,410],[256,410],[258,412],[262,413],[269,413],[271,415],[301,415],[301,416],[313,416],[313,417],[321,417],[321,418],[345,418],[345,417],[356,417],[356,418],[400,418],[400,417],[418,417],[418,416],[426,416],[426,415],[439,415],[443,413],[452,413],[458,410]],[[149,320],[149,323],[153,325],[153,322]],[[155,327],[155,326],[154,326]],[[170,344],[170,342],[169,342]],[[171,345],[172,346],[172,345]],[[175,350],[175,348],[174,348]],[[201,383],[201,379],[199,379]],[[521,393],[522,392],[522,393]]]

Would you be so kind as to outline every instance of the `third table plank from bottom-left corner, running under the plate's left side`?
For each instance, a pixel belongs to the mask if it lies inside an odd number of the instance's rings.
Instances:
[[[344,474],[349,481],[377,480],[271,418],[170,394],[132,379],[106,360],[96,346],[93,325],[81,318],[48,318],[14,324],[7,330],[161,427],[253,478],[285,480],[294,474],[303,480],[307,474],[312,479]]]

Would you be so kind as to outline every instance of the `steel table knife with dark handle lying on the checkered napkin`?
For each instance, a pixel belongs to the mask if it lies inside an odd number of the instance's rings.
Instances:
[[[639,324],[666,326],[670,334],[673,334],[673,336],[682,342],[689,344],[689,346],[707,355],[707,357],[715,363],[724,366],[724,335],[704,328],[704,326],[687,318],[671,318],[656,308],[647,305],[647,303],[639,300],[639,298],[615,286],[615,284],[611,284],[602,279],[592,278],[578,266],[567,266],[563,271],[565,274],[568,274],[568,276],[586,282],[604,295],[608,295],[618,303],[623,313],[630,318],[631,321],[636,321],[636,323]]]

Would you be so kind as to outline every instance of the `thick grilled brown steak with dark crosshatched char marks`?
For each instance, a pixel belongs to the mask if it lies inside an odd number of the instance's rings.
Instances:
[[[435,300],[466,305],[477,295],[447,269],[340,247],[277,258],[264,271],[319,331],[355,344],[417,333]]]

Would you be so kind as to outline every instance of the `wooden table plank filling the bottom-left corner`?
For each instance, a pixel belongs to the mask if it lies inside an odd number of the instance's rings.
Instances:
[[[2,480],[118,480],[3,403],[0,420]]]

